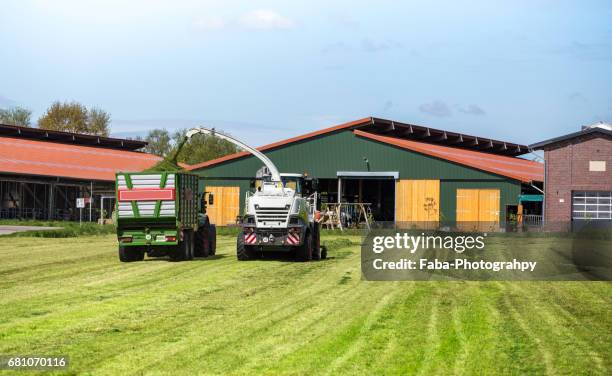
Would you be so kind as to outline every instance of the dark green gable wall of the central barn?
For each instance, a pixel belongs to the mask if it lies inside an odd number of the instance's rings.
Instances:
[[[400,179],[440,180],[440,211],[449,221],[455,218],[457,188],[499,188],[502,221],[506,205],[516,205],[521,190],[516,180],[357,137],[346,130],[289,144],[266,155],[281,172],[308,173],[320,179],[336,179],[337,171],[397,171]],[[249,181],[261,166],[257,158],[247,156],[193,172],[203,178],[204,186],[239,186],[242,210]]]

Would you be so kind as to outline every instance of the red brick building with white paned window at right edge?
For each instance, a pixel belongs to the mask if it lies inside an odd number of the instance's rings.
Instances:
[[[546,223],[612,222],[612,125],[586,126],[531,147],[544,150]]]

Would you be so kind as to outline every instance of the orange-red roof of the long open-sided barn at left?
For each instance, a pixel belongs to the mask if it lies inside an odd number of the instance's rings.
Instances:
[[[0,137],[0,172],[114,181],[115,172],[142,171],[160,157],[125,150]]]

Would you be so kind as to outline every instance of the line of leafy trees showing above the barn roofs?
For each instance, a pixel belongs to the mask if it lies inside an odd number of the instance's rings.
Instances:
[[[32,126],[32,111],[23,107],[0,109],[0,123],[8,125]],[[54,102],[38,119],[41,129],[83,133],[97,136],[110,134],[111,116],[108,112],[92,107],[87,108],[78,102]],[[174,152],[185,137],[187,130],[170,133],[166,129],[149,130],[146,136],[136,140],[147,142],[143,151],[160,157]],[[189,140],[179,151],[177,161],[196,164],[237,152],[232,143],[219,138],[198,134]]]

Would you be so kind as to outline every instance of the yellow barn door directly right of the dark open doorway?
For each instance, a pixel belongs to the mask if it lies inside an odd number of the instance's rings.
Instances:
[[[395,188],[395,222],[437,226],[440,220],[439,180],[399,180]],[[418,223],[414,223],[418,222]]]

